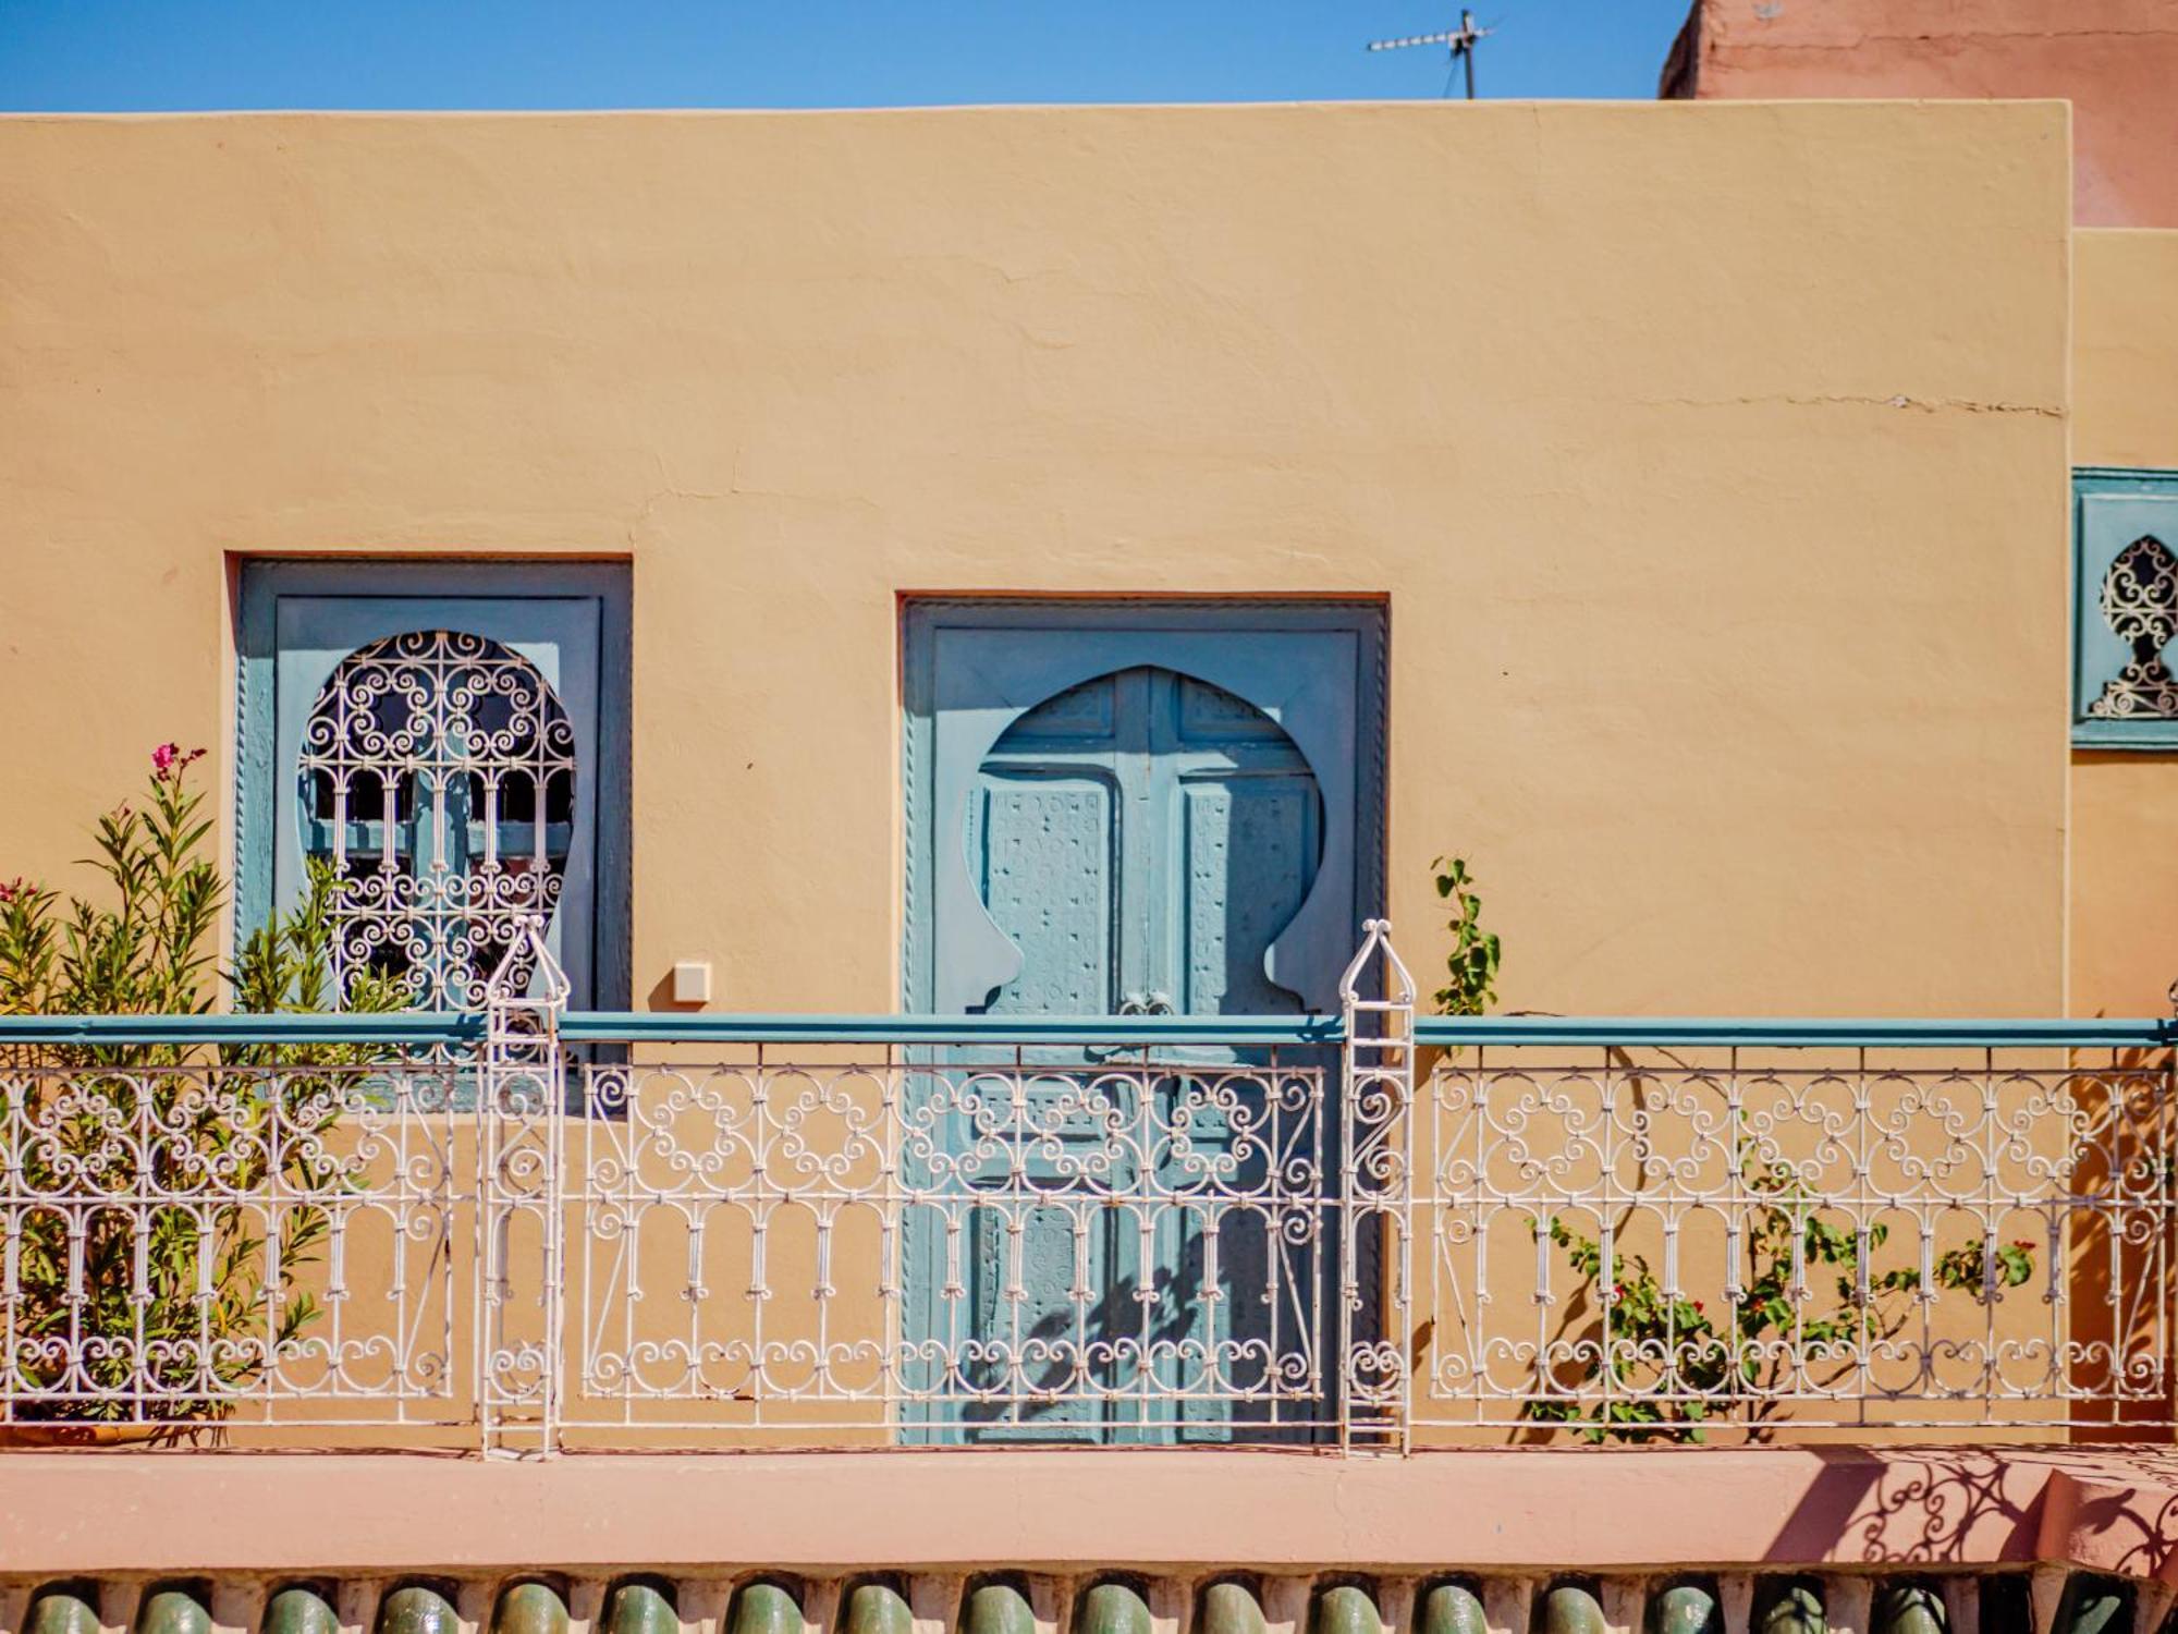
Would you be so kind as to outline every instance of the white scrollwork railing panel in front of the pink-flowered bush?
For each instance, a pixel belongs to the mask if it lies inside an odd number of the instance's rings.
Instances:
[[[466,1416],[455,1076],[348,1046],[0,1057],[0,1423]]]

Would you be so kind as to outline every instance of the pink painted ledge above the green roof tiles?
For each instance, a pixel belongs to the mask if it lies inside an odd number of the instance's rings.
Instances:
[[[0,1453],[0,1573],[1986,1566],[2178,1582],[2178,1447]]]

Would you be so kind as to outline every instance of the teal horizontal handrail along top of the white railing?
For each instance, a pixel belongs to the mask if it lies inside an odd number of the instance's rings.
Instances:
[[[0,1015],[9,1044],[481,1044],[481,1013],[394,1015]],[[1309,1046],[1344,1044],[1335,1015],[673,1015],[568,1011],[568,1044],[1106,1044]],[[1886,1020],[1686,1015],[1427,1015],[1420,1046],[1625,1048],[2165,1048],[2178,1020]]]

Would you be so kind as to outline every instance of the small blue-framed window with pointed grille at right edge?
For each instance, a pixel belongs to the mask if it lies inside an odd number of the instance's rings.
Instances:
[[[2073,473],[2071,741],[2178,749],[2178,471]]]

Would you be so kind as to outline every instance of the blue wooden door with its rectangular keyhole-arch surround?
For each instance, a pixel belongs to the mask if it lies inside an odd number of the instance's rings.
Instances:
[[[1379,643],[1370,608],[910,608],[908,1004],[1331,1009],[1359,909],[1374,911]],[[1233,1076],[1261,1065],[1235,1050],[1159,1063],[1170,1070],[1115,1050],[1026,1052],[1013,1126],[993,1076],[967,1096],[982,1115],[937,1133],[1004,1161],[969,1166],[991,1200],[965,1227],[937,1211],[908,1222],[919,1383],[952,1370],[971,1401],[910,1427],[1252,1434],[1233,1427],[1252,1412],[1233,1394],[1261,1390],[1268,1357],[1322,1316],[1311,1266],[1329,1264],[1313,1257],[1329,1244],[1296,1251],[1265,1214],[1185,1203],[1204,1166],[1226,1163],[1228,1192],[1263,1179],[1276,1092],[1268,1072]],[[1152,1192],[1183,1200],[1115,1205],[1146,1170]],[[1082,1386],[1139,1381],[1146,1355],[1157,1401],[1087,1399]],[[1050,1399],[1021,1399],[1037,1390]]]

